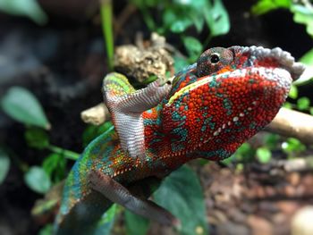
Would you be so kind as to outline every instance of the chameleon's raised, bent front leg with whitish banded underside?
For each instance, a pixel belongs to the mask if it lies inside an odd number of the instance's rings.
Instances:
[[[131,157],[145,157],[144,125],[141,114],[157,106],[170,91],[171,80],[158,79],[147,88],[135,90],[120,73],[110,73],[103,81],[104,99],[112,114],[121,147]]]

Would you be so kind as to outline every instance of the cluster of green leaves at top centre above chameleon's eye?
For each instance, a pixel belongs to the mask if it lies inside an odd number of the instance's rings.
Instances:
[[[131,0],[142,13],[143,19],[150,31],[156,31],[168,36],[170,33],[180,34],[190,60],[197,58],[203,47],[207,47],[213,37],[227,34],[230,29],[229,16],[222,0],[170,0],[143,1]],[[209,29],[204,42],[188,35],[190,30],[199,34]]]

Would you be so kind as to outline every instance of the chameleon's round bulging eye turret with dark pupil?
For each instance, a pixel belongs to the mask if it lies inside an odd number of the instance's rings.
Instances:
[[[200,55],[197,61],[199,78],[223,69],[233,62],[233,51],[224,47],[213,47]]]

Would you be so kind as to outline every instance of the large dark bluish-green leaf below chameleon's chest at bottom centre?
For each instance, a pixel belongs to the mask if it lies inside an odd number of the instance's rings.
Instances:
[[[195,172],[182,166],[172,172],[154,194],[158,205],[180,219],[180,234],[207,234],[203,191]]]

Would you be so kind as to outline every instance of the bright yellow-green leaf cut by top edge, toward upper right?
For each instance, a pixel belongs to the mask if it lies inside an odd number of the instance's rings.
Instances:
[[[291,0],[258,0],[258,3],[251,7],[251,12],[255,15],[260,15],[278,8],[289,9],[291,5]]]

